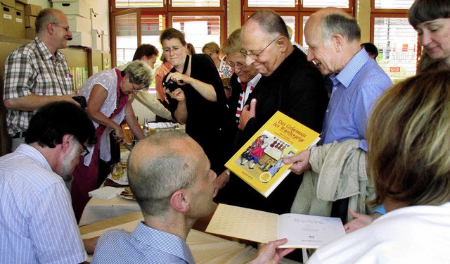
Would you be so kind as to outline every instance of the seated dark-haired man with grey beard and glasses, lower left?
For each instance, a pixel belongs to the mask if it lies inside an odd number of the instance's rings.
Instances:
[[[96,239],[82,241],[65,180],[96,142],[94,125],[60,101],[37,111],[27,132],[27,144],[0,158],[0,263],[82,263]]]

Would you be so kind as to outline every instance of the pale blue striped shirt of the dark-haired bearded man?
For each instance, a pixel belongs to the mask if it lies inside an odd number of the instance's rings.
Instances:
[[[22,144],[0,158],[0,263],[87,259],[70,194],[44,156]]]

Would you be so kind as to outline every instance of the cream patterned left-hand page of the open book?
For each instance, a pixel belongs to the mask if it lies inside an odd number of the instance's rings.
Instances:
[[[276,240],[278,215],[220,203],[206,232],[260,243]]]

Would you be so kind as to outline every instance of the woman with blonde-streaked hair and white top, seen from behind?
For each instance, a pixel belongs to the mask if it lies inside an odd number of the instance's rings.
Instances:
[[[372,203],[387,214],[318,249],[308,263],[449,263],[450,72],[388,89],[368,120]]]

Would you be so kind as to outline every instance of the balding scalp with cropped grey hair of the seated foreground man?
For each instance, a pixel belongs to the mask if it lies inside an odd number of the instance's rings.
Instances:
[[[152,134],[134,146],[129,155],[131,191],[145,215],[169,211],[169,197],[195,184],[203,149],[186,133]]]

